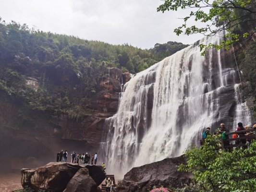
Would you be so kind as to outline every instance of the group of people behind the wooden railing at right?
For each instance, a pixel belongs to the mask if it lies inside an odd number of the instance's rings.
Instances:
[[[249,135],[255,135],[255,133],[252,132],[252,131],[248,131],[248,132],[239,132],[239,131],[249,130],[249,129],[255,129],[255,131],[256,131],[256,124],[253,125],[253,127],[250,127],[249,125],[246,125],[245,128],[243,126],[243,123],[241,123],[241,122],[239,122],[237,125],[238,125],[238,127],[236,128],[235,131],[238,132],[238,133],[234,133],[232,135],[232,138],[239,138],[239,137],[244,137],[244,136],[249,136]],[[203,141],[204,141],[207,138],[207,136],[209,136],[209,135],[214,136],[214,135],[221,134],[222,135],[222,140],[223,140],[223,145],[227,146],[227,145],[230,145],[230,142],[227,141],[227,139],[229,139],[229,135],[226,135],[226,132],[229,132],[229,130],[226,129],[224,123],[221,123],[220,127],[215,132],[213,132],[213,134],[211,134],[210,128],[207,127],[206,130],[202,134],[202,138],[203,138]],[[240,139],[240,140],[235,140],[235,144],[246,144],[247,142],[251,143],[252,139],[253,138],[247,138],[247,139],[243,138],[243,139]],[[245,147],[246,146],[244,146],[244,148]]]

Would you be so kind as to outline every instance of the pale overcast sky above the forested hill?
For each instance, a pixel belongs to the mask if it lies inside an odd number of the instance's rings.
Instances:
[[[191,44],[202,36],[176,36],[186,12],[157,12],[161,0],[0,0],[0,17],[45,32],[110,44],[152,48],[156,43]],[[187,11],[190,12],[190,11]]]

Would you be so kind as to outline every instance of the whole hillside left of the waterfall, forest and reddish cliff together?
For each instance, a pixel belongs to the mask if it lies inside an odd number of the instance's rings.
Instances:
[[[0,170],[43,165],[61,149],[95,153],[122,84],[187,46],[172,44],[144,50],[0,22]]]

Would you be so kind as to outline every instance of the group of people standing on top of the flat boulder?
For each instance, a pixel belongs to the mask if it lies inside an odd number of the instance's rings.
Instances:
[[[68,151],[61,150],[57,153],[57,162],[67,162],[68,157]],[[91,165],[97,165],[97,159],[98,155],[95,153],[95,155],[92,155],[92,157],[88,153],[83,154],[76,154],[73,152],[71,154],[71,163],[78,163],[78,164],[90,164]]]

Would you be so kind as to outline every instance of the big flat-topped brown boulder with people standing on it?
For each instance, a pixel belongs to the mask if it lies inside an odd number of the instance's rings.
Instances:
[[[90,180],[96,188],[106,178],[101,166],[55,162],[40,168],[21,169],[21,184],[24,189],[34,190],[35,192],[63,192],[81,168],[84,171],[78,173],[81,176],[82,174],[86,175],[86,180]],[[76,175],[73,183],[77,180],[77,177],[79,176]],[[87,192],[87,189],[79,192]]]

